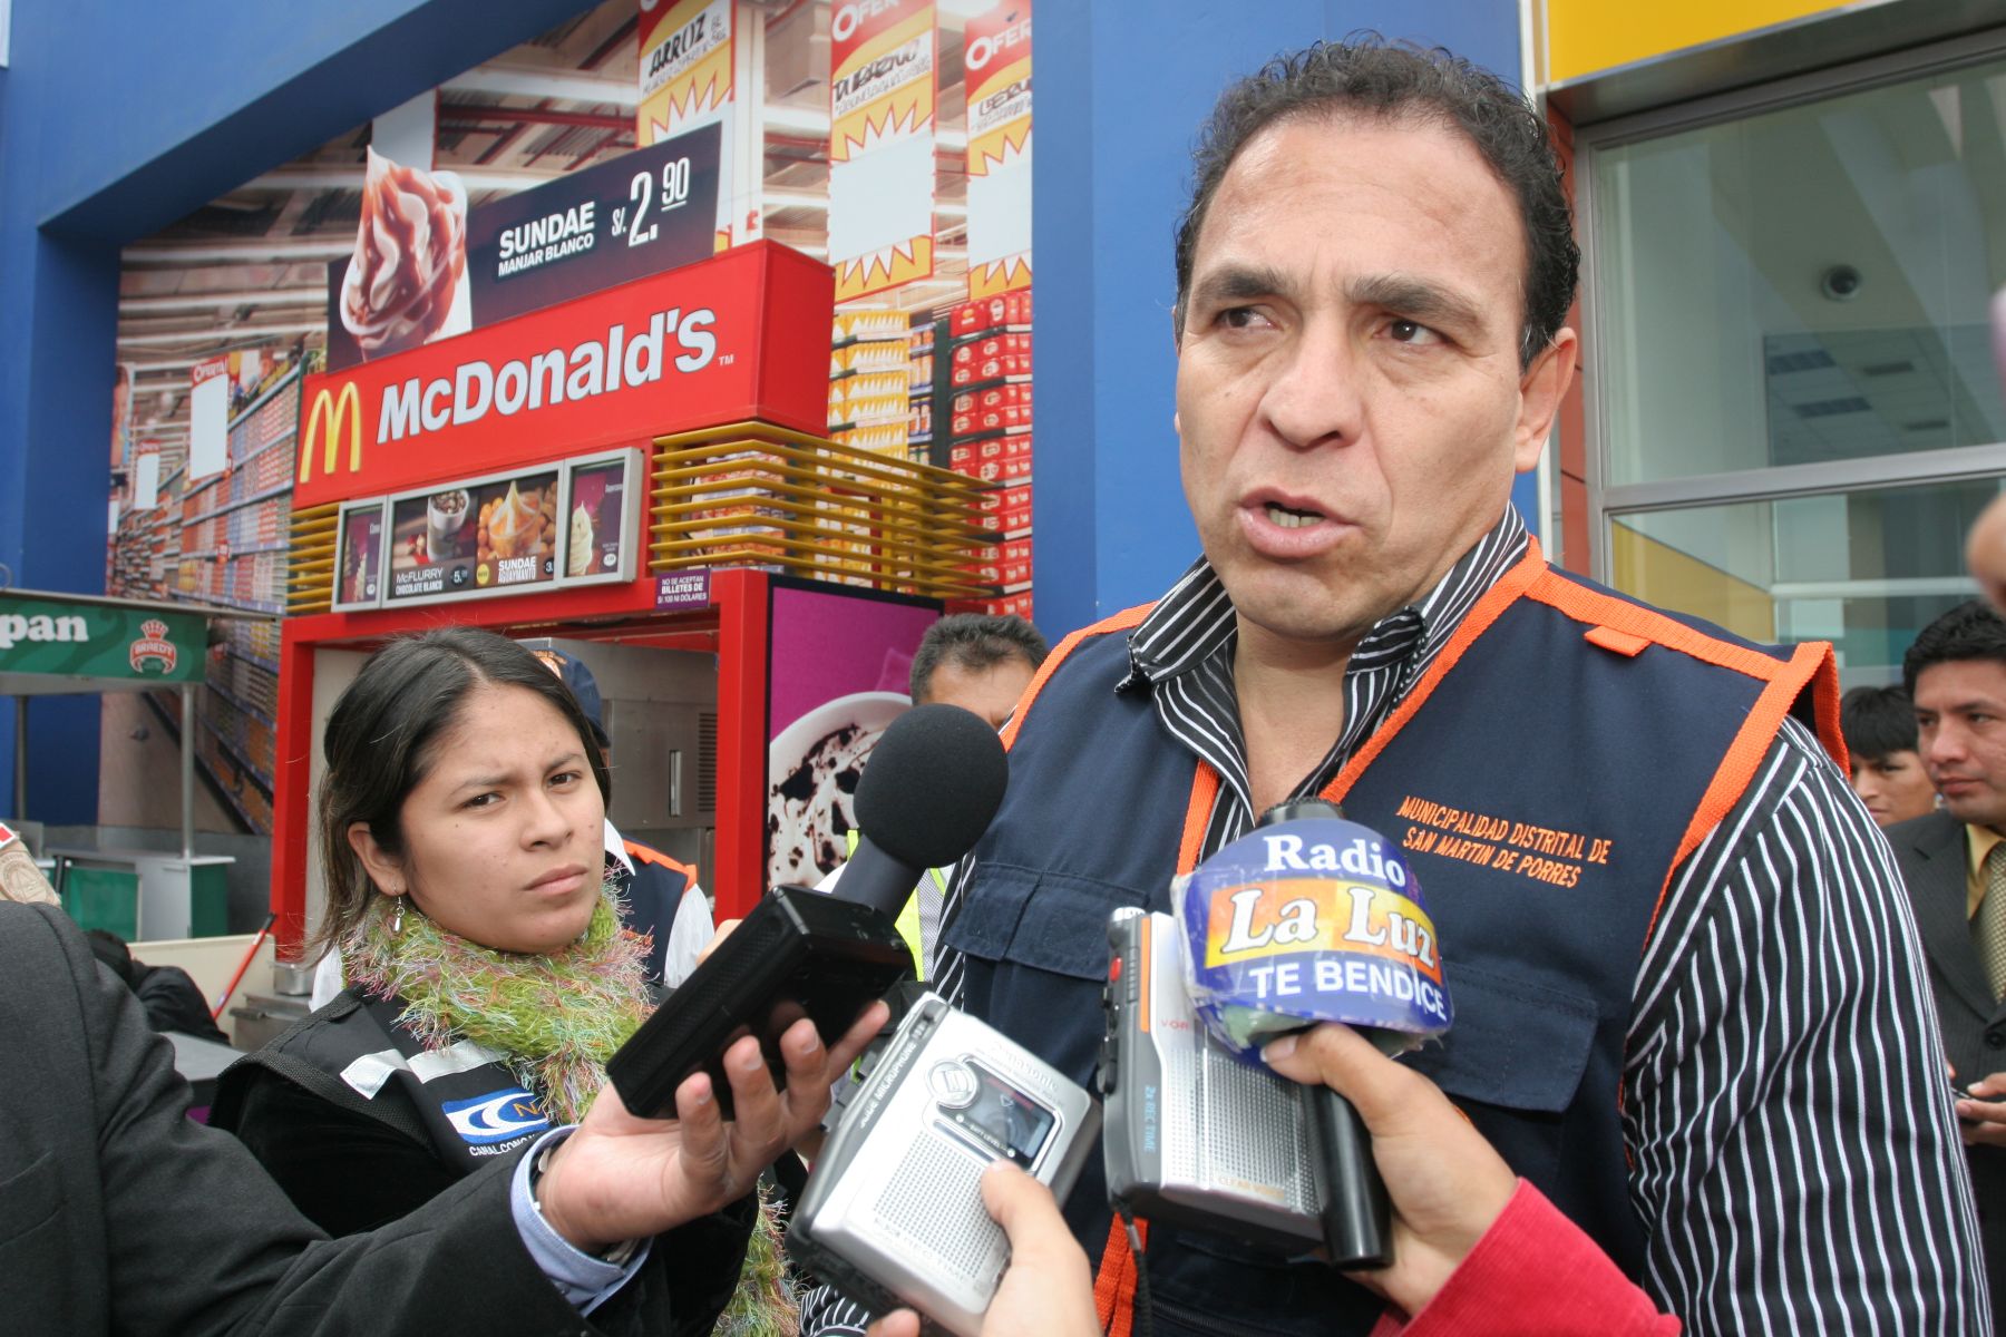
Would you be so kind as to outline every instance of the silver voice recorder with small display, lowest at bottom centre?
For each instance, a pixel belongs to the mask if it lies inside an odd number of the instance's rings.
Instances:
[[[822,1147],[788,1253],[875,1313],[911,1305],[977,1337],[1009,1263],[983,1169],[1011,1161],[1063,1201],[1099,1123],[1063,1072],[923,994]]]

